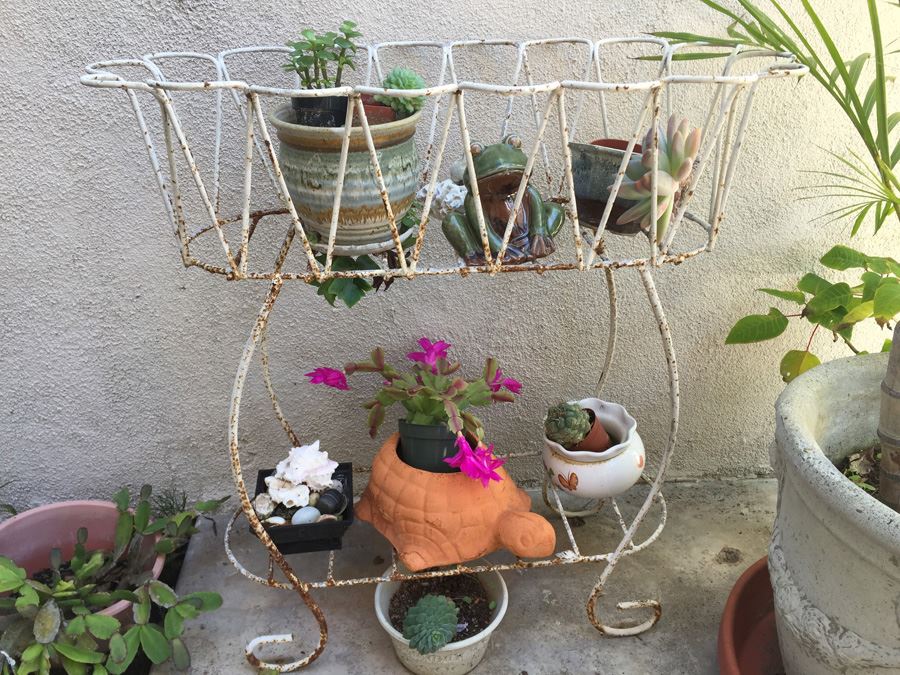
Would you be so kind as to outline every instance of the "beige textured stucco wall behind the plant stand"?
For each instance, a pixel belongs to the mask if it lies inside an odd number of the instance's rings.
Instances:
[[[866,48],[863,6],[819,2],[852,52]],[[229,284],[181,268],[130,108],[122,95],[78,83],[83,64],[153,50],[215,52],[278,44],[302,25],[356,17],[381,39],[610,36],[651,29],[718,31],[696,0],[587,2],[423,0],[89,0],[0,5],[0,484],[2,501],[108,495],[122,483],[231,488],[225,429],[234,369],[264,284]],[[888,22],[885,25],[890,25]],[[762,309],[760,286],[783,287],[813,265],[845,224],[811,222],[832,202],[799,202],[799,172],[826,167],[816,144],[843,150],[849,125],[812,81],[767,86],[714,255],[661,270],[657,283],[680,358],[682,431],[672,473],[768,470],[777,345],[725,347],[736,317]],[[896,223],[870,252],[897,254]],[[608,395],[628,405],[650,448],[667,425],[659,336],[637,274],[618,274],[620,358]],[[536,448],[548,402],[591,391],[602,363],[602,277],[559,274],[423,279],[395,284],[353,310],[331,309],[302,285],[273,319],[275,384],[304,438],[362,460],[364,386],[343,395],[305,383],[316,365],[363,356],[374,343],[400,357],[421,335],[454,343],[470,364],[500,357],[525,382],[515,407],[485,415],[502,449]],[[870,335],[870,348],[880,345]],[[823,356],[842,353],[824,345]],[[286,450],[257,374],[242,411],[244,463],[271,466]]]

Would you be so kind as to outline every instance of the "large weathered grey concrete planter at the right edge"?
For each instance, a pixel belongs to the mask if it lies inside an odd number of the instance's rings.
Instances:
[[[875,443],[887,356],[814,368],[775,406],[769,574],[789,675],[900,674],[900,514],[833,464]]]

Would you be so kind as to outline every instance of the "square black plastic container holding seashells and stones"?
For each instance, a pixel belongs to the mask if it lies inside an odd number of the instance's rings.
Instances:
[[[266,491],[265,479],[275,473],[275,469],[265,469],[256,475],[256,494]],[[305,525],[266,526],[266,531],[278,550],[290,553],[312,553],[314,551],[337,551],[343,546],[344,533],[353,524],[353,464],[341,462],[334,471],[334,478],[341,482],[342,492],[347,497],[347,508],[341,520],[324,520],[321,523]]]

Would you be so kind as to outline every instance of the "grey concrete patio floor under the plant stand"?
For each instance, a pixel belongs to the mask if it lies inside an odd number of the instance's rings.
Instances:
[[[645,488],[623,500],[626,519]],[[486,675],[704,675],[718,672],[716,636],[722,608],[738,576],[764,556],[775,513],[776,483],[769,479],[698,481],[669,484],[664,494],[668,522],[646,550],[623,559],[610,578],[600,614],[615,623],[614,603],[656,598],[662,618],[648,632],[631,638],[601,636],[588,622],[585,601],[602,564],[581,564],[504,572],[509,611],[494,633],[487,656],[473,671]],[[539,501],[539,499],[538,499]],[[541,505],[542,510],[543,505]],[[546,512],[545,509],[543,509]],[[649,527],[656,525],[651,511]],[[609,507],[575,529],[583,553],[611,550],[618,524]],[[199,675],[253,673],[243,656],[248,641],[263,634],[294,633],[297,642],[266,656],[293,657],[311,649],[318,631],[296,594],[262,587],[228,562],[222,526],[209,524],[191,542],[178,590],[214,590],[223,607],[189,624],[185,639]],[[558,519],[556,519],[558,523]],[[243,563],[265,575],[264,549],[249,534],[243,519],[233,545]],[[565,540],[557,526],[560,541]],[[560,545],[558,544],[558,550]],[[327,554],[289,556],[301,576],[324,578]],[[502,556],[501,558],[503,559]],[[377,575],[390,560],[385,540],[366,523],[355,523],[344,538],[336,576]],[[319,590],[314,596],[328,620],[328,645],[308,672],[320,675],[386,675],[405,672],[373,610],[374,586]],[[627,619],[627,617],[620,617]],[[636,618],[636,617],[635,617]],[[638,621],[643,620],[643,615]],[[157,669],[156,673],[168,673]]]

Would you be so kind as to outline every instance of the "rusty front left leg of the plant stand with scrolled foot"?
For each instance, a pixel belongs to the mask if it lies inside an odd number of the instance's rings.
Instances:
[[[322,609],[309,594],[309,586],[297,578],[297,576],[294,574],[294,570],[288,564],[287,560],[285,560],[284,556],[281,555],[281,552],[275,546],[275,543],[272,541],[271,537],[269,537],[269,534],[266,532],[265,528],[262,526],[262,523],[259,521],[259,518],[256,516],[256,512],[253,510],[253,506],[250,503],[250,497],[247,494],[247,486],[244,483],[243,471],[241,469],[240,452],[238,448],[238,419],[241,408],[241,395],[244,391],[244,384],[247,380],[247,373],[250,369],[250,363],[253,360],[253,353],[256,350],[257,345],[259,345],[263,339],[266,330],[266,323],[269,319],[269,314],[272,311],[275,300],[278,298],[278,293],[281,291],[282,284],[283,281],[281,276],[276,276],[272,281],[272,285],[269,287],[269,292],[266,295],[263,306],[259,310],[259,314],[256,318],[256,323],[253,325],[253,330],[250,332],[250,337],[247,339],[247,342],[244,345],[244,351],[241,354],[241,360],[238,364],[237,373],[234,376],[234,387],[231,392],[231,411],[228,418],[228,445],[231,451],[231,471],[234,476],[235,486],[237,487],[241,509],[243,510],[247,521],[250,523],[250,527],[253,530],[253,533],[262,542],[263,546],[266,547],[266,550],[269,552],[270,559],[276,565],[278,565],[278,567],[284,573],[284,576],[287,578],[288,582],[291,584],[293,589],[297,591],[297,594],[302,598],[306,606],[309,607],[309,610],[315,617],[316,622],[319,624],[319,642],[316,645],[315,649],[313,649],[313,651],[305,658],[298,659],[290,663],[267,663],[257,656],[256,649],[263,644],[284,643],[292,641],[292,635],[260,636],[247,645],[245,652],[247,660],[251,665],[255,666],[256,668],[266,668],[275,670],[280,673],[286,673],[294,670],[299,670],[300,668],[309,665],[319,657],[319,655],[324,651],[325,644],[328,641],[328,625],[325,622],[325,615],[322,613]],[[275,403],[274,399],[273,403]]]

